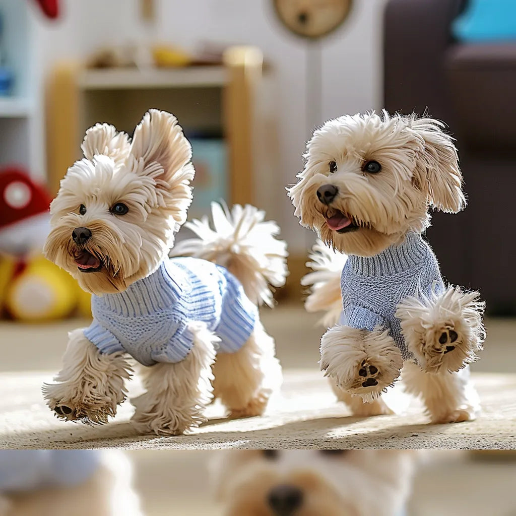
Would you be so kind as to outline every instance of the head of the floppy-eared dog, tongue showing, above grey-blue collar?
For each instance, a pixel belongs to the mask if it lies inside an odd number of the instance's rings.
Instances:
[[[295,215],[341,252],[377,254],[426,229],[430,206],[465,205],[453,139],[431,118],[344,115],[314,132],[304,157],[288,189]]]

